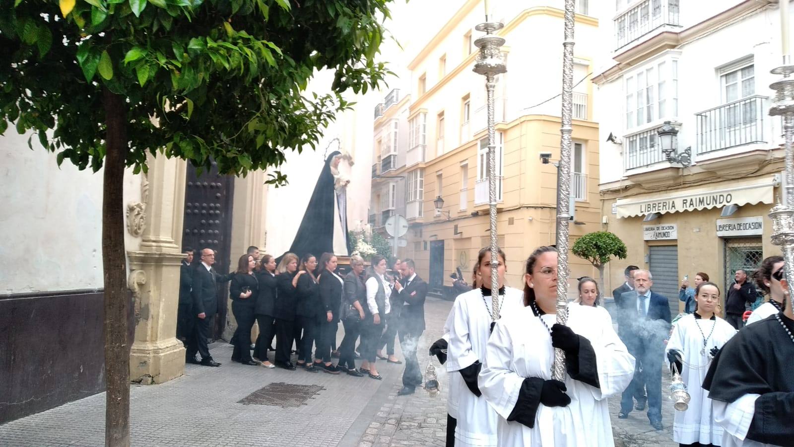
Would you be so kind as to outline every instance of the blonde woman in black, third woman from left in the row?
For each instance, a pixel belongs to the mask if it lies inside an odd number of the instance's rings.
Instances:
[[[287,253],[276,268],[276,304],[273,317],[276,317],[276,366],[295,371],[290,361],[292,341],[295,338],[295,311],[298,307],[295,286],[292,280],[298,273],[298,256]]]

